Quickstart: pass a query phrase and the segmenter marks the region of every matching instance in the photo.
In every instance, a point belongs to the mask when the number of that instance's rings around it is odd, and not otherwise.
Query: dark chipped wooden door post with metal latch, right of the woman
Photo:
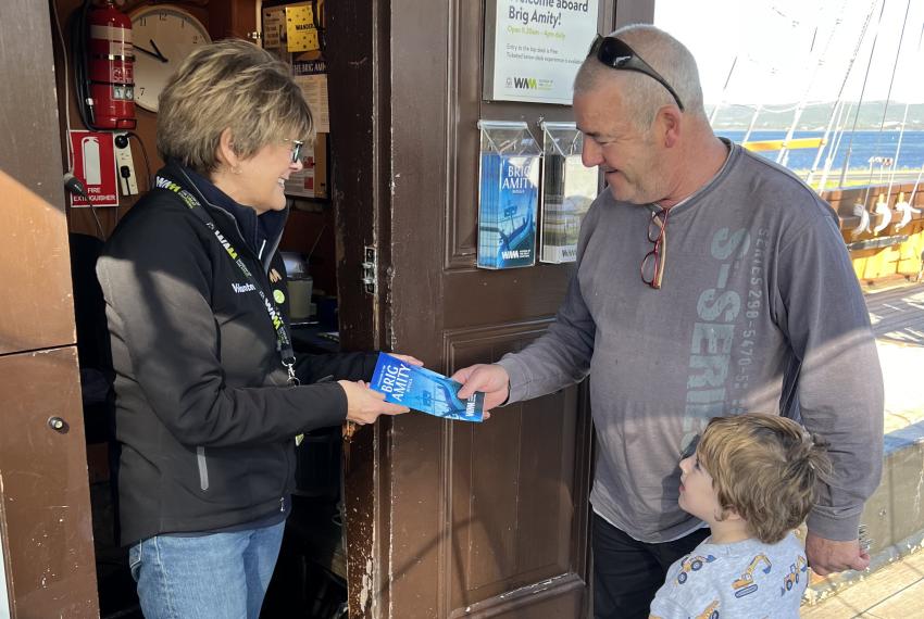
[[[332,202],[336,213],[337,295],[344,350],[390,350],[385,265],[391,262],[387,0],[327,7],[332,138]],[[375,291],[362,282],[366,250],[376,253]],[[390,425],[383,419],[344,443],[347,580],[350,617],[376,617],[382,603],[378,566],[383,543],[380,489],[386,481]]]

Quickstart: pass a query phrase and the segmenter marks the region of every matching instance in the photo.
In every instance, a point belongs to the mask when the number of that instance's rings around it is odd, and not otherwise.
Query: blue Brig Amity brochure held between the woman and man
[[[477,391],[462,401],[457,395],[460,387],[451,378],[385,353],[378,353],[378,363],[370,382],[371,389],[385,394],[386,402],[444,419],[482,421],[485,394]]]

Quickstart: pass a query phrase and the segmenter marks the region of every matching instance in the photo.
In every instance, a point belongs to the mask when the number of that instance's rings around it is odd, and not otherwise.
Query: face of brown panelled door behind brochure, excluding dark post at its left
[[[571,269],[487,271],[476,257],[479,118],[571,118],[486,103],[484,4],[391,4],[390,344],[449,375],[549,325]],[[612,17],[610,16],[610,23]],[[577,389],[484,425],[397,419],[383,464],[380,617],[582,617],[588,607],[590,424]]]

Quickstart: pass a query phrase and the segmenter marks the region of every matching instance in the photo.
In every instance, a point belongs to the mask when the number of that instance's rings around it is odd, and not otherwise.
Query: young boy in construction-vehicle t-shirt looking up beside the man
[[[696,453],[680,460],[678,500],[712,535],[667,570],[651,617],[798,617],[809,578],[792,529],[828,467],[823,447],[790,419],[712,419]]]

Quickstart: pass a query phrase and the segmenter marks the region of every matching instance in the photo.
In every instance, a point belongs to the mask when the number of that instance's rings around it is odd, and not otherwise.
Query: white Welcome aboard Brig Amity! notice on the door
[[[571,105],[598,0],[488,0],[484,99]]]

